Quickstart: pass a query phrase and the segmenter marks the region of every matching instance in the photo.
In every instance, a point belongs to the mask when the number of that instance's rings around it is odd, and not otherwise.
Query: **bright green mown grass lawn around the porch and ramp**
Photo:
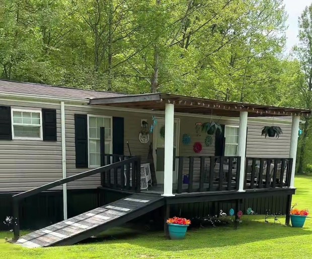
[[[296,177],[293,204],[312,211],[312,177]],[[312,258],[312,220],[303,229],[265,224],[264,217],[244,216],[233,227],[188,231],[182,241],[166,240],[163,232],[116,228],[100,241],[64,247],[27,249],[6,243],[11,233],[0,232],[0,259],[17,258]],[[284,223],[284,222],[282,222]]]

